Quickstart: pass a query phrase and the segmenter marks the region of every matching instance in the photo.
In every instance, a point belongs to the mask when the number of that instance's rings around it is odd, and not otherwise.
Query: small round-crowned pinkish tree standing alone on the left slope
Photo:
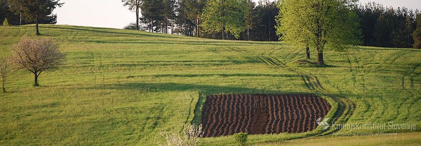
[[[64,55],[58,45],[50,38],[22,40],[12,46],[11,61],[17,69],[34,73],[34,86],[39,86],[38,76],[47,70],[58,68],[64,61]]]

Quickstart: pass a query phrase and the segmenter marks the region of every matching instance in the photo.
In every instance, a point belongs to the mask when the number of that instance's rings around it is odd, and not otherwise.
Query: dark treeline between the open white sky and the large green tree
[[[122,0],[123,5],[130,10],[139,12],[141,17],[140,30],[164,34],[179,34],[185,36],[214,38],[214,39],[236,39],[236,40],[257,40],[257,41],[278,41],[276,35],[275,17],[279,13],[277,2],[260,0],[258,3],[252,0]],[[235,4],[234,4],[235,3]],[[202,25],[205,19],[207,7],[221,6],[224,11],[232,8],[238,11],[239,17],[221,13],[217,17],[240,29],[236,34],[228,29],[230,24],[221,24],[220,31],[207,29]],[[136,7],[140,11],[136,11]],[[208,10],[209,11],[209,10]],[[233,11],[231,11],[233,12]],[[209,26],[209,25],[208,25]],[[219,26],[218,26],[219,27]],[[125,29],[136,29],[137,24],[131,23]],[[223,29],[223,30],[222,30]],[[224,31],[225,30],[225,31]],[[234,33],[234,34],[233,34]]]

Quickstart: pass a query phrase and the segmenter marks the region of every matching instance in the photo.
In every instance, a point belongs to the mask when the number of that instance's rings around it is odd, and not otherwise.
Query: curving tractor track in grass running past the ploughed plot
[[[333,115],[333,119],[332,122],[334,122],[335,124],[345,124],[348,122],[349,118],[351,117],[351,115],[353,114],[353,112],[356,109],[356,105],[355,103],[353,103],[351,100],[347,99],[347,98],[339,98],[339,97],[334,97],[333,95],[331,95],[330,91],[327,91],[321,84],[319,78],[312,74],[312,73],[308,73],[299,69],[295,69],[292,67],[287,66],[285,63],[281,62],[279,59],[277,59],[276,57],[270,56],[270,55],[257,55],[255,56],[257,59],[260,59],[264,64],[274,67],[274,68],[283,68],[286,69],[288,71],[297,73],[301,76],[305,86],[311,90],[314,91],[316,93],[319,93],[321,95],[327,96],[329,98],[331,98],[332,100],[334,100],[337,104],[337,110]],[[314,119],[316,120],[316,119]],[[332,128],[332,127],[331,127]],[[322,136],[322,135],[327,135],[327,134],[331,134],[331,133],[335,133],[337,131],[339,131],[340,128],[337,129],[331,129],[331,130],[326,130],[318,135]]]

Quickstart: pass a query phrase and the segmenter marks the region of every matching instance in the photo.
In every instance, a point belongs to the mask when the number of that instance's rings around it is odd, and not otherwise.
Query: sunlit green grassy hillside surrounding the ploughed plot
[[[0,27],[0,57],[10,55],[9,47],[21,37],[35,37],[34,31],[33,25]],[[156,145],[163,142],[160,132],[198,123],[204,96],[220,93],[314,93],[338,102],[343,113],[329,116],[341,123],[421,124],[421,50],[327,52],[327,66],[316,67],[294,63],[305,57],[304,49],[282,42],[65,25],[41,25],[40,31],[60,43],[65,64],[41,74],[36,88],[29,72],[9,75],[8,92],[0,94],[1,145]],[[376,131],[409,130],[340,130]],[[329,132],[253,135],[249,143],[283,144],[323,133]],[[411,135],[418,138],[410,142],[420,143],[420,133]],[[200,144],[233,142],[228,136]]]

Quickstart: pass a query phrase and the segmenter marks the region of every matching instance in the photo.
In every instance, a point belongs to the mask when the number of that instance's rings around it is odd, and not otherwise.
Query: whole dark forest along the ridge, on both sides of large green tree
[[[124,1],[136,1],[139,4],[140,29],[144,31],[233,40],[278,41],[280,37],[277,36],[275,29],[275,17],[280,11],[278,1],[259,0],[258,3],[252,0]],[[130,7],[132,8],[133,6]],[[212,10],[214,11],[209,12]],[[353,11],[360,20],[363,45],[417,48],[414,42],[417,41],[415,30],[416,18],[420,14],[418,10],[394,9],[372,2],[358,5]],[[230,29],[228,26],[234,26],[235,29]],[[131,23],[125,28],[136,29],[136,23]]]

